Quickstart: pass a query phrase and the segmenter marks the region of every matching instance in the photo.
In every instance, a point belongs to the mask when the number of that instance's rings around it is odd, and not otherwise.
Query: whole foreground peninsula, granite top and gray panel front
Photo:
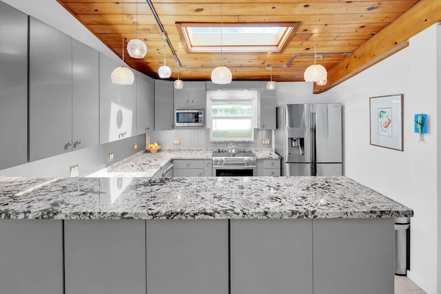
[[[0,191],[12,294],[393,294],[393,219],[413,216],[342,176],[0,178]]]

